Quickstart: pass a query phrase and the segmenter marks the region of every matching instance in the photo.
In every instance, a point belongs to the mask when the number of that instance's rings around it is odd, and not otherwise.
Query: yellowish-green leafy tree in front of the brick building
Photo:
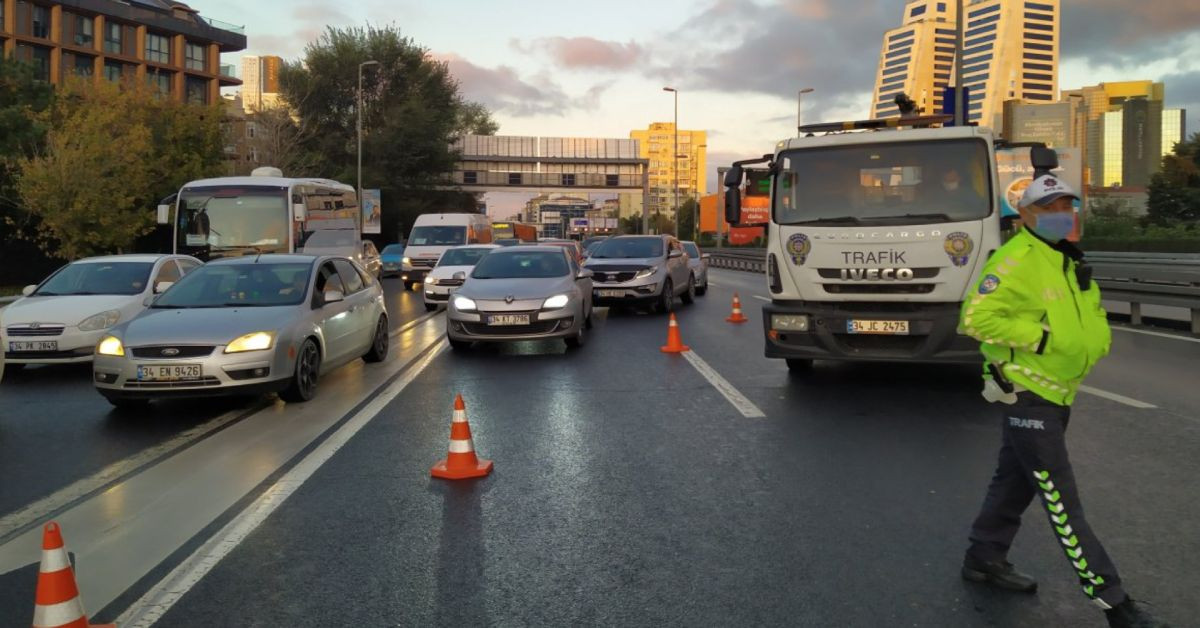
[[[160,198],[222,168],[217,107],[136,82],[68,82],[40,120],[46,146],[20,160],[17,190],[38,244],[59,257],[128,250],[155,228]]]

